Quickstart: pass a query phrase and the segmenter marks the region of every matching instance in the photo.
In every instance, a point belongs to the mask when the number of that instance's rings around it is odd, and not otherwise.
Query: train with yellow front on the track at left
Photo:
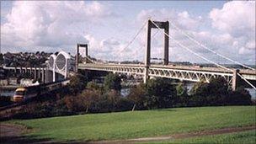
[[[49,93],[58,88],[62,88],[63,86],[66,86],[67,83],[69,83],[69,80],[62,80],[62,81],[53,82],[53,83],[43,83],[40,85],[27,86],[27,87],[19,87],[15,90],[12,101],[14,103],[19,103],[39,95]]]

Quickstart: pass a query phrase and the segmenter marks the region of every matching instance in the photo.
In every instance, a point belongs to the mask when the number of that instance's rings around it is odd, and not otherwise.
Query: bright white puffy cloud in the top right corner
[[[214,8],[209,14],[212,26],[231,33],[233,36],[244,34],[248,30],[255,31],[255,2],[232,1],[223,8]]]

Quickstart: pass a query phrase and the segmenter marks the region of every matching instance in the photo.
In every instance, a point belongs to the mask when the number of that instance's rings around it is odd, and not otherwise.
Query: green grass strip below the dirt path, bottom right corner
[[[145,142],[150,144],[168,144],[168,143],[209,143],[209,144],[255,144],[256,131],[243,131],[231,134],[222,134],[215,136],[200,136],[193,138],[177,139],[170,141]]]

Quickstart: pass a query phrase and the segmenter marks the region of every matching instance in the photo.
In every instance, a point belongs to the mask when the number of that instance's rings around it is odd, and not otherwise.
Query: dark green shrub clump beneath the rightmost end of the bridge
[[[213,78],[210,83],[195,83],[190,93],[190,106],[252,104],[247,90],[230,91],[223,77]]]

